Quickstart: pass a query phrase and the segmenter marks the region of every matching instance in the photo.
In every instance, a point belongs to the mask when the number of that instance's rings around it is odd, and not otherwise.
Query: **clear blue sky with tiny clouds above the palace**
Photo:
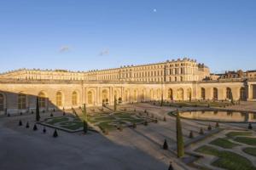
[[[256,69],[256,1],[0,1],[0,72],[87,71],[183,56],[212,72]]]

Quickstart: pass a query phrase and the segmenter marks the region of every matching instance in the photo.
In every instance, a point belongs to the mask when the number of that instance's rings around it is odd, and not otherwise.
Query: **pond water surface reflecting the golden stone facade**
[[[187,111],[180,116],[190,119],[200,119],[219,122],[256,122],[255,113],[232,111]]]

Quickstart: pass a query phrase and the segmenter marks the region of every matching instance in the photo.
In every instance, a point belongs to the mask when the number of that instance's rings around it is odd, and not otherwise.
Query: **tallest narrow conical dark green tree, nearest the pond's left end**
[[[176,131],[177,131],[177,157],[184,156],[183,131],[180,121],[179,112],[176,114]]]

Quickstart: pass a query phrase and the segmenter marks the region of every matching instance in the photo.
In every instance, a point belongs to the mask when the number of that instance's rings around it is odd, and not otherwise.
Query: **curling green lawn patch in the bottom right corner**
[[[202,154],[218,157],[212,162],[212,166],[221,167],[228,170],[255,170],[253,163],[247,158],[240,156],[234,152],[217,150],[211,146],[203,145],[195,151]]]

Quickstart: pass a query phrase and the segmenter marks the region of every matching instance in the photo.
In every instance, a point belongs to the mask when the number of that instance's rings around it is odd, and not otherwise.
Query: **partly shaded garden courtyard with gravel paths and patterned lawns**
[[[236,163],[244,165],[244,169],[254,169],[254,123],[253,130],[247,130],[246,122],[219,122],[216,127],[214,121],[182,119],[185,156],[177,158],[176,117],[170,113],[177,109],[209,109],[206,103],[195,106],[195,102],[188,102],[181,107],[181,102],[165,102],[163,106],[148,102],[119,105],[117,111],[113,106],[88,108],[90,129],[86,134],[81,109],[76,114],[66,111],[64,116],[63,111],[41,113],[40,122],[35,122],[34,114],[4,116],[0,121],[0,169],[168,169],[170,161],[174,169],[234,169],[239,167]],[[225,107],[215,105],[230,111],[239,108],[227,103]],[[247,105],[246,111],[255,111],[253,102],[240,105]],[[19,121],[22,126],[18,126]],[[37,131],[33,131],[34,124]],[[55,129],[58,138],[52,137]],[[168,150],[162,149],[165,139]]]

